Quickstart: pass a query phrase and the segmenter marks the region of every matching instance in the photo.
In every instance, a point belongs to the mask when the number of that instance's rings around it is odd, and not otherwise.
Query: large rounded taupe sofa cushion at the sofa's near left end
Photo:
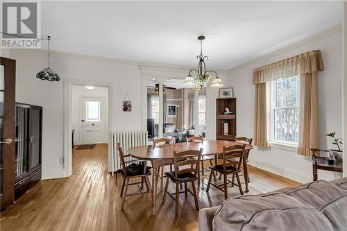
[[[332,230],[314,207],[285,194],[230,198],[217,209],[212,224],[214,230]]]

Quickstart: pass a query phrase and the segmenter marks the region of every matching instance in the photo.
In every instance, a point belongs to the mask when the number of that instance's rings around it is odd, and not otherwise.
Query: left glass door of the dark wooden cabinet
[[[28,168],[28,108],[16,108],[15,177],[27,173]]]

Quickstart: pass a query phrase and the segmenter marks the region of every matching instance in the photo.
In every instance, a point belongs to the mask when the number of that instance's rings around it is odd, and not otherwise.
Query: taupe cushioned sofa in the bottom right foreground
[[[199,211],[198,230],[347,230],[347,178],[228,198]]]

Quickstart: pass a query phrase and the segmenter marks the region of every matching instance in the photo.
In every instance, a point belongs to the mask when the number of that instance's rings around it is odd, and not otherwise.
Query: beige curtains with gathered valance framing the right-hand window
[[[268,144],[266,137],[266,94],[261,93],[263,89],[266,91],[265,83],[279,78],[300,75],[298,154],[311,156],[310,149],[319,148],[317,72],[323,71],[323,69],[321,51],[316,50],[253,70],[252,83],[255,85],[255,145],[266,147]],[[260,116],[264,111],[264,116]]]

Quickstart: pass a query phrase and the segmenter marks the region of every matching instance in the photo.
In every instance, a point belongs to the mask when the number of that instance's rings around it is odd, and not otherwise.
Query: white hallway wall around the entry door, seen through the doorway
[[[71,123],[72,123],[72,129],[75,130],[74,132],[74,144],[81,144],[81,132],[80,132],[80,125],[81,125],[81,117],[80,117],[80,96],[103,96],[105,97],[105,106],[108,107],[108,87],[96,87],[95,89],[87,89],[85,86],[79,86],[79,85],[72,85],[72,96],[71,96]],[[105,110],[105,113],[108,114],[108,110]],[[103,116],[103,134],[105,134],[105,128],[107,126],[107,117],[106,114]],[[105,135],[103,137],[104,140],[107,140],[108,137]]]

